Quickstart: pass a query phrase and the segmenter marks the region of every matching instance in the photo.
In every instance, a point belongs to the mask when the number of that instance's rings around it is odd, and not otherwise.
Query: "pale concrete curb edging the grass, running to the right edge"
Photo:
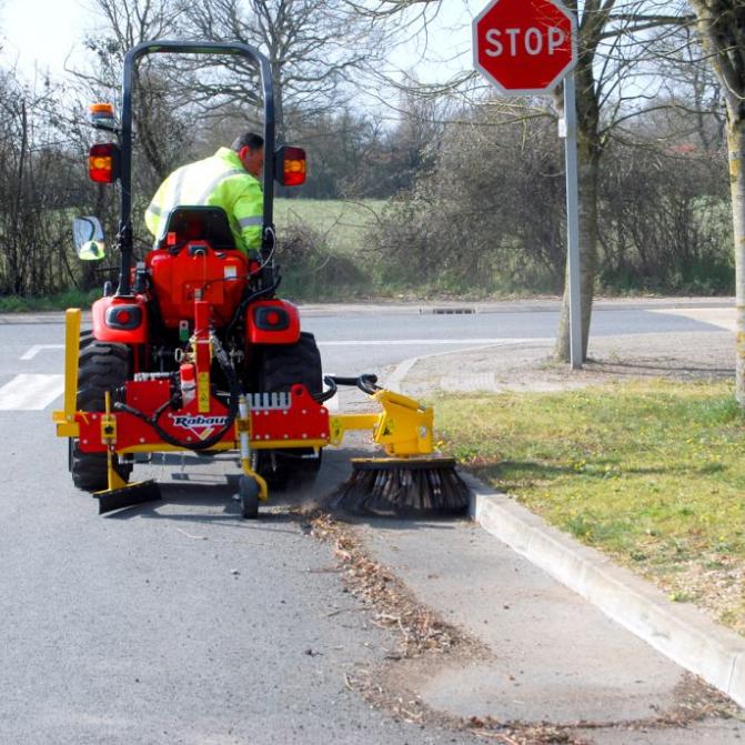
[[[489,533],[682,667],[745,706],[745,638],[696,608],[672,603],[594,548],[582,546],[504,494],[464,474],[471,516]]]

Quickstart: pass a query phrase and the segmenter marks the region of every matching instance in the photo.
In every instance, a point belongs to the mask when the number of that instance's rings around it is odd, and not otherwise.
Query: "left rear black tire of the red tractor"
[[[90,332],[82,332],[78,368],[78,410],[101,412],[105,407],[105,392],[124,385],[129,371],[129,349],[125,344],[99,342]],[[74,437],[69,442],[69,466],[72,483],[85,492],[98,492],[109,484],[105,453],[83,453]],[[115,459],[115,456],[114,456]],[[114,460],[117,473],[128,481],[130,463]]]

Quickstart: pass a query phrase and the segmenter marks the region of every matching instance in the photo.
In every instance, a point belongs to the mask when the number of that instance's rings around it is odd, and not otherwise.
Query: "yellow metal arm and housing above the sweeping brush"
[[[383,406],[380,414],[338,414],[329,417],[331,445],[341,445],[346,432],[372,429],[373,441],[382,445],[387,455],[405,457],[429,455],[434,451],[433,409],[393,391],[376,391],[372,397]]]

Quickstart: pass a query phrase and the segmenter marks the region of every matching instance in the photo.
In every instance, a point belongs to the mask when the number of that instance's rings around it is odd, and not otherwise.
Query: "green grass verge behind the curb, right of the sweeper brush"
[[[745,415],[723,382],[449,396],[444,450],[745,634]]]

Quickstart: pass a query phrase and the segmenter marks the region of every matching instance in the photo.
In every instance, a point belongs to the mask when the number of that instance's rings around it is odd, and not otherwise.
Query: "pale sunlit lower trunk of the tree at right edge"
[[[737,362],[735,395],[745,406],[745,118],[727,119],[727,145],[729,150],[729,185],[732,191],[732,219],[735,236],[735,288],[737,308]]]

